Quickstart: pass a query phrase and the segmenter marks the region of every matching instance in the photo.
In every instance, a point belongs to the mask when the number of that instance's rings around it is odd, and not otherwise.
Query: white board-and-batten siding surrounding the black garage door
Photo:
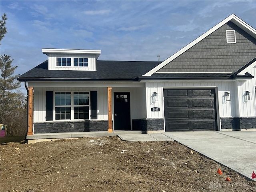
[[[146,97],[147,97],[147,118],[164,118],[164,88],[214,88],[216,90],[216,109],[217,116],[220,117],[234,117],[237,115],[236,104],[234,100],[235,89],[234,82],[223,81],[173,81],[173,82],[146,82]],[[226,101],[225,92],[230,92],[231,101]],[[153,101],[153,92],[158,93],[158,101]],[[160,112],[152,112],[152,107],[159,107]]]

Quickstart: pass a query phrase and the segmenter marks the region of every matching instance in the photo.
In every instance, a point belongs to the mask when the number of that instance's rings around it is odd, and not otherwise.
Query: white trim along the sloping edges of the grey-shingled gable
[[[238,18],[237,16],[232,14],[232,15],[228,16],[226,19],[224,19],[222,22],[218,23],[216,26],[214,26],[213,28],[211,28],[210,30],[208,30],[207,32],[202,34],[200,37],[198,37],[197,39],[192,41],[190,44],[188,44],[187,46],[185,46],[184,48],[182,48],[181,50],[179,50],[178,52],[176,52],[175,54],[173,54],[172,56],[170,56],[169,58],[164,60],[162,63],[160,63],[158,66],[156,66],[155,68],[153,68],[152,70],[150,70],[149,72],[144,74],[143,76],[151,76],[152,74],[154,74],[155,72],[160,70],[162,67],[164,67],[166,64],[170,63],[172,60],[174,60],[175,58],[180,56],[182,53],[186,52],[192,46],[194,46],[195,44],[197,44],[198,42],[200,42],[201,40],[206,38],[208,35],[212,34],[215,30],[217,30],[218,28],[220,28],[221,26],[223,26],[224,24],[226,24],[229,21],[238,25],[240,28],[242,28],[248,34],[250,34],[251,36],[256,38],[256,30],[254,28],[252,28],[250,25],[248,25],[246,22],[244,22],[243,20],[241,20],[240,18]]]

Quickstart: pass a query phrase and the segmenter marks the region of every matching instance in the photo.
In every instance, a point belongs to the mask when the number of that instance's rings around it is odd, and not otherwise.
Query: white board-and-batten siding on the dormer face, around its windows
[[[56,58],[65,57],[71,58],[71,65],[73,65],[73,58],[88,58],[88,67],[78,66],[56,66]],[[79,70],[79,71],[95,71],[96,57],[91,54],[49,54],[48,56],[49,70]]]

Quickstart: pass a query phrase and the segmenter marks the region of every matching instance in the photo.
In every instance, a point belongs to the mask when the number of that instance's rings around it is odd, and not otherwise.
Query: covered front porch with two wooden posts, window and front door
[[[28,138],[147,131],[144,83],[28,82],[28,87]]]

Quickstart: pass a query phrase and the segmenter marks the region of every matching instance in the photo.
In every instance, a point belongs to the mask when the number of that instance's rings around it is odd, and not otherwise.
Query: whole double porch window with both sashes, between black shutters
[[[55,120],[89,119],[89,92],[55,92],[54,101]]]

